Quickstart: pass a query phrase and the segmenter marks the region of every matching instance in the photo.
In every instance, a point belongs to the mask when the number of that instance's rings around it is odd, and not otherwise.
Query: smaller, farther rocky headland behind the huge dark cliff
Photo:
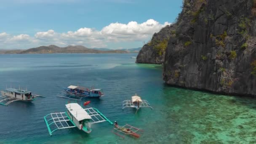
[[[163,64],[168,40],[174,33],[174,25],[166,26],[155,33],[150,42],[139,51],[136,63]]]

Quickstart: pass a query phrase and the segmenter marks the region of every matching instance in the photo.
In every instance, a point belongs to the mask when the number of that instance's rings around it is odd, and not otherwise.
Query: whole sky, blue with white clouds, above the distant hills
[[[2,0],[0,48],[136,48],[172,23],[182,0]],[[132,21],[132,22],[131,22]]]

